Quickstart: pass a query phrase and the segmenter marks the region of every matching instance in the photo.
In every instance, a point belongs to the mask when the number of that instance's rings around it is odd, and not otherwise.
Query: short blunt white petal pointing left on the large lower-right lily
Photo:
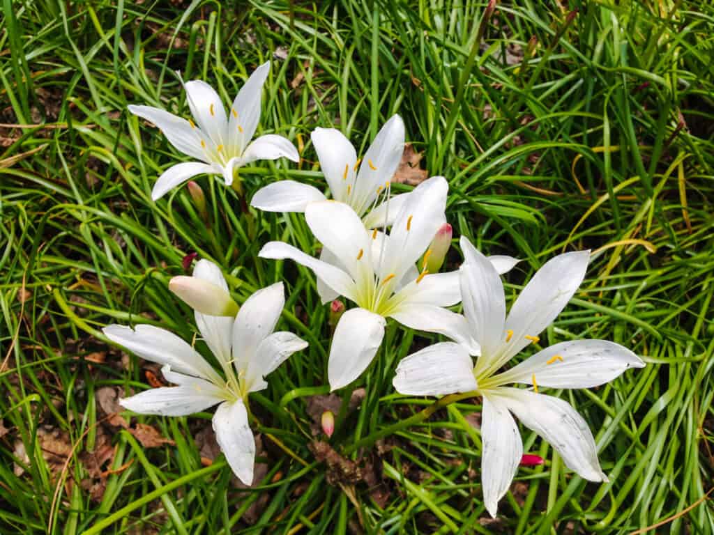
[[[403,358],[392,381],[400,394],[446,396],[478,388],[468,352],[453,342],[430,345]]]

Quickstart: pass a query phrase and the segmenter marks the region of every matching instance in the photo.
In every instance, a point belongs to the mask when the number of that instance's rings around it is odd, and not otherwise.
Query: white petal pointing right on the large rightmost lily
[[[558,358],[560,357],[560,358]],[[539,387],[590,388],[612,381],[645,363],[630,350],[606,340],[573,340],[551,345],[501,375],[504,382]]]

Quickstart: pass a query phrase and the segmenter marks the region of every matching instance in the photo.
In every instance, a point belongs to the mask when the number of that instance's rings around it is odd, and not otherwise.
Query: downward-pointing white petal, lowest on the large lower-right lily
[[[483,395],[481,412],[481,486],[488,513],[496,518],[498,500],[503,498],[518,472],[523,442],[518,426],[501,399]]]

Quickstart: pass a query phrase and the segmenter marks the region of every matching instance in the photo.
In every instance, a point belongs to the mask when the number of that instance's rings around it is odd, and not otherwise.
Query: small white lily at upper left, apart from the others
[[[266,134],[251,143],[261,117],[261,90],[269,70],[270,63],[266,62],[253,71],[238,91],[228,114],[218,93],[201,80],[183,84],[193,120],[186,121],[161,108],[129,106],[131,113],[160,128],[178,151],[198,160],[177,163],[166,169],[151,191],[152,199],[159,199],[202,173],[222,175],[229,186],[233,183],[234,170],[253,161],[276,160],[283,156],[293,162],[300,161],[296,148],[282,136]]]

